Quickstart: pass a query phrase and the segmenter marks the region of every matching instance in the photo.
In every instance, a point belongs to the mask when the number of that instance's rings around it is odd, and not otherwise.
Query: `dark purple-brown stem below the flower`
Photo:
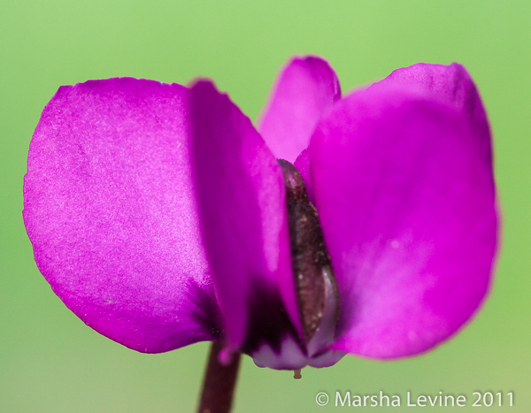
[[[240,353],[234,353],[231,362],[223,365],[219,363],[219,351],[222,348],[222,343],[212,343],[197,413],[227,413],[232,407],[242,357]]]

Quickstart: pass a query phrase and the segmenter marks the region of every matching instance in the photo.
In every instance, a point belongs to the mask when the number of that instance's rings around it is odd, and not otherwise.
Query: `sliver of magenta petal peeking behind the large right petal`
[[[492,148],[487,113],[481,103],[481,96],[465,66],[430,65],[418,63],[396,69],[374,87],[388,88],[391,84],[402,87],[423,88],[435,99],[449,103],[468,119],[471,128],[469,136],[476,140],[487,164],[492,164]]]

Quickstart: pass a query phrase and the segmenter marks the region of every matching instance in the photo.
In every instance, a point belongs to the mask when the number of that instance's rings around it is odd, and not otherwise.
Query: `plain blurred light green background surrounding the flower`
[[[27,148],[60,85],[134,76],[214,79],[257,119],[275,73],[296,54],[335,67],[343,91],[416,62],[466,65],[489,111],[503,210],[489,301],[431,353],[380,363],[258,369],[245,356],[236,412],[321,411],[315,395],[466,394],[460,411],[531,409],[531,2],[73,1],[0,8],[0,412],[191,411],[206,343],[142,355],[95,333],[38,272],[21,217]],[[513,392],[514,407],[472,408],[473,392]],[[505,402],[505,404],[507,404]],[[339,408],[341,409],[341,408]],[[348,409],[348,408],[344,408]],[[425,408],[443,410],[444,408]],[[448,409],[448,408],[447,408]],[[448,409],[453,410],[453,409]]]

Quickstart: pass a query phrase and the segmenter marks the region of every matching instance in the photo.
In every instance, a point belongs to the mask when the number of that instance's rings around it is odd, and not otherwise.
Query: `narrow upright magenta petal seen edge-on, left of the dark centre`
[[[212,83],[197,82],[191,96],[198,202],[228,348],[278,349],[294,334],[289,318],[302,336],[281,167]]]

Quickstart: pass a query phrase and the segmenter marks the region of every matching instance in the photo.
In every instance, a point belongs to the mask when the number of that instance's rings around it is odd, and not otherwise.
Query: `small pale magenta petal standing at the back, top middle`
[[[340,98],[339,80],[327,61],[296,57],[276,80],[258,131],[275,157],[293,164],[323,113]]]

